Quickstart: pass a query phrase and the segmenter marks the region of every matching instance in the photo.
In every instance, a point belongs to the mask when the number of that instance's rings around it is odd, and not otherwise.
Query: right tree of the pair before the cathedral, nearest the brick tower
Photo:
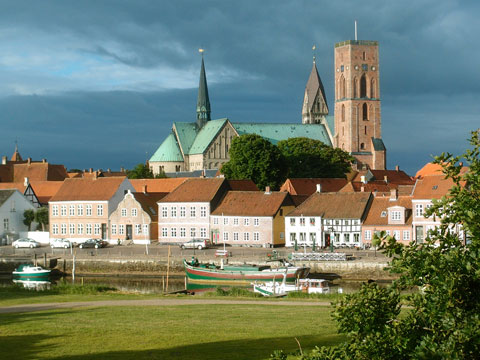
[[[342,149],[305,137],[290,138],[278,143],[291,178],[344,178],[354,160]]]

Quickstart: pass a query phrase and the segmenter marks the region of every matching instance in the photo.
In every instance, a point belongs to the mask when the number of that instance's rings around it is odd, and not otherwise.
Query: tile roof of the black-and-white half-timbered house
[[[314,193],[288,216],[360,219],[372,197],[369,192]]]

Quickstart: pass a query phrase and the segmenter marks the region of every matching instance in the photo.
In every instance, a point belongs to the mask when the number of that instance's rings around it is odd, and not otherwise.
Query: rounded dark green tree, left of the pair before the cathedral
[[[287,166],[280,150],[260,135],[233,139],[229,155],[230,161],[221,169],[227,179],[251,179],[260,189],[278,189],[286,179]]]

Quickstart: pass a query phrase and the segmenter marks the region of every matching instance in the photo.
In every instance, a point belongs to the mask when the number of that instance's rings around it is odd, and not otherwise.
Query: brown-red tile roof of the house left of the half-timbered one
[[[229,191],[212,215],[275,216],[283,204],[293,205],[286,192]]]

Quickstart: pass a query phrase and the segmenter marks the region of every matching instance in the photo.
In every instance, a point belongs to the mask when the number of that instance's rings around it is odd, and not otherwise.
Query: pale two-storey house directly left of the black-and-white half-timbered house
[[[295,208],[286,192],[229,191],[210,216],[215,244],[284,246],[285,214]]]

